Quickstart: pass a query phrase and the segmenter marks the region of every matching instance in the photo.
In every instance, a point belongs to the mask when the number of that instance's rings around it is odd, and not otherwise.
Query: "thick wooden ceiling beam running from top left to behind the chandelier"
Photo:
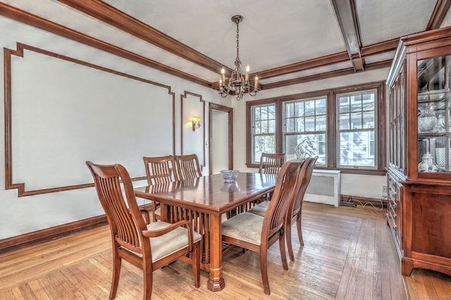
[[[173,39],[173,37],[165,35],[163,32],[150,27],[136,18],[133,18],[131,15],[128,15],[123,11],[119,11],[117,8],[106,4],[104,1],[58,1],[215,73],[218,73],[223,67],[221,63],[214,61],[199,51],[192,49],[190,46],[179,42],[177,39]],[[230,68],[226,68],[226,70],[230,73],[232,72]]]

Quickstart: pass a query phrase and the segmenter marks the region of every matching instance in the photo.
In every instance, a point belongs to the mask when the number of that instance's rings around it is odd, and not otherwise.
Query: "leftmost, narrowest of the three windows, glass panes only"
[[[276,106],[252,108],[252,157],[260,161],[262,153],[276,152]]]

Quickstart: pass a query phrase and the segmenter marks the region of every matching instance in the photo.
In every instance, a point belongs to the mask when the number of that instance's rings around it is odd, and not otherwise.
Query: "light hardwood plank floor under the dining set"
[[[194,288],[190,265],[177,261],[154,273],[152,299],[451,299],[447,275],[414,270],[404,285],[385,218],[372,208],[306,202],[302,218],[305,245],[295,235],[290,270],[277,243],[269,251],[270,296],[258,254],[233,248],[223,257],[223,291],[206,289],[203,271]],[[0,256],[0,299],[108,299],[110,283],[108,226]],[[142,271],[130,263],[116,299],[142,299]]]

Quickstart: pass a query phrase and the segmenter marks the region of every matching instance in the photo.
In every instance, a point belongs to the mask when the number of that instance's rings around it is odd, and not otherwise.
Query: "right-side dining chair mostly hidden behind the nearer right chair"
[[[297,196],[294,197],[294,201],[290,203],[288,207],[288,216],[285,224],[285,237],[287,239],[288,255],[290,256],[290,261],[295,261],[295,254],[293,252],[291,230],[292,230],[292,220],[296,221],[297,237],[299,238],[299,243],[304,246],[304,239],[302,238],[302,202],[304,201],[304,195],[309,187],[311,180],[311,175],[313,174],[314,166],[318,156],[313,158],[306,158],[307,170],[304,175],[304,180],[302,180],[302,185],[297,192]],[[291,215],[290,215],[291,214]]]

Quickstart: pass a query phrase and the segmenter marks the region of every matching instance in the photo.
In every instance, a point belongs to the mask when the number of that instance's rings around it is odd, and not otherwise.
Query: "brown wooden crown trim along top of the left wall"
[[[122,58],[129,59],[130,61],[135,61],[136,63],[140,63],[142,65],[147,65],[150,68],[154,68],[156,70],[161,70],[162,72],[183,78],[185,80],[190,80],[191,82],[195,82],[199,85],[204,85],[206,87],[211,87],[210,82],[206,80],[202,80],[198,77],[194,77],[193,75],[184,73],[175,68],[171,68],[168,65],[163,65],[157,61],[153,61],[152,59],[146,58],[144,56],[140,56],[131,51],[127,51],[118,46],[114,46],[113,44],[109,44],[103,42],[99,39],[94,39],[94,37],[89,37],[81,32],[72,30],[68,27],[64,27],[62,25],[51,22],[50,20],[46,20],[37,15],[33,15],[32,13],[28,13],[26,11],[22,11],[18,8],[14,8],[13,6],[8,6],[7,4],[0,3],[0,15],[3,15],[6,18],[10,18],[12,20],[16,20],[20,23],[24,23],[33,27],[37,27],[41,30],[45,30],[47,32],[51,32],[55,35],[59,35],[61,37],[66,37],[68,39],[72,39],[76,42],[80,42],[82,44],[86,44],[88,46],[92,46],[96,49],[100,49],[102,51],[109,52],[111,54],[121,56]]]

